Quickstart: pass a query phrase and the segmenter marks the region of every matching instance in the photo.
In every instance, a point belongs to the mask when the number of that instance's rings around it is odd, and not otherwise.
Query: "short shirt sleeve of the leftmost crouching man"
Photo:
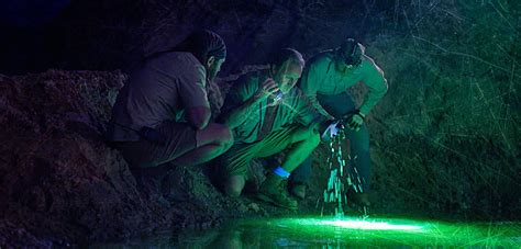
[[[207,73],[202,65],[195,65],[192,70],[187,70],[179,79],[178,92],[185,109],[210,107],[206,90]]]

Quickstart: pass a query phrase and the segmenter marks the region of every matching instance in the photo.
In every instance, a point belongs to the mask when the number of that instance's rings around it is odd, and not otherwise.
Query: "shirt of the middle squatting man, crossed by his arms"
[[[266,70],[253,71],[240,77],[226,94],[222,107],[222,115],[225,116],[229,112],[253,98],[267,78],[268,75]],[[250,115],[244,116],[243,122],[233,129],[236,143],[254,143],[263,138],[260,127],[266,120],[268,101],[270,102],[271,100],[266,99],[255,104]],[[322,118],[298,88],[293,88],[286,93],[276,106],[270,131],[289,127],[289,125],[293,123],[309,126],[311,123],[320,122]]]

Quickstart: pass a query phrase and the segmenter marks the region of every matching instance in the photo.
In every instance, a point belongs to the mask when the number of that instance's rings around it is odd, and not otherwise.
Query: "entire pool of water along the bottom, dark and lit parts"
[[[521,248],[521,223],[403,218],[257,218],[96,248]]]

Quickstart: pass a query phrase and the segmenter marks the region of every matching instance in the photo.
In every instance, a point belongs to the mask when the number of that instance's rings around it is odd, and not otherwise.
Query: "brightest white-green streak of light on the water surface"
[[[411,225],[392,225],[381,222],[366,222],[366,220],[323,220],[318,224],[337,226],[351,229],[363,230],[419,230],[420,226]]]

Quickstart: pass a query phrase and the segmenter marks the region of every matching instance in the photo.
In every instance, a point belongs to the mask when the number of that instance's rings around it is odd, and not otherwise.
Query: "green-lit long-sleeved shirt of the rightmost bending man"
[[[319,106],[317,94],[340,94],[362,81],[369,91],[359,106],[359,111],[364,114],[369,113],[370,109],[387,92],[388,86],[387,80],[384,78],[384,72],[366,55],[363,55],[362,64],[358,67],[342,72],[335,68],[334,56],[333,50],[326,50],[311,58],[300,79],[302,91],[310,99],[313,106],[324,114],[322,112],[323,109]]]

